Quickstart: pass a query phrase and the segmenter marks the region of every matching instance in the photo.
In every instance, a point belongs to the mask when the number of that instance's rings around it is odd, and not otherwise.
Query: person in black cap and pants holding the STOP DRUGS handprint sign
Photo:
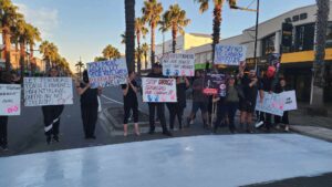
[[[153,71],[147,75],[147,77],[165,77],[163,76],[162,65],[154,64]],[[157,115],[163,127],[163,134],[172,136],[172,133],[167,129],[166,118],[165,118],[165,106],[164,103],[152,103],[148,102],[148,114],[149,114],[149,134],[155,133],[155,111],[157,110]]]

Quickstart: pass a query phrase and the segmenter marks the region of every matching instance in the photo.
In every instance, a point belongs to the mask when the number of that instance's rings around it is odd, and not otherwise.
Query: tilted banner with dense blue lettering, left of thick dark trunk
[[[87,63],[89,81],[92,89],[125,84],[128,71],[124,59]]]

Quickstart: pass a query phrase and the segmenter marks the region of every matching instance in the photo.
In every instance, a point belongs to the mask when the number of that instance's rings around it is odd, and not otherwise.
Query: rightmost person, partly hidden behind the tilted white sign
[[[279,93],[282,93],[286,91],[290,91],[290,90],[287,86],[284,77],[280,77],[279,83],[276,86],[276,93],[279,94]],[[282,116],[274,115],[274,123],[276,123],[277,128],[279,128],[280,124],[282,124],[282,125],[284,125],[284,131],[289,132],[288,111],[284,111]]]

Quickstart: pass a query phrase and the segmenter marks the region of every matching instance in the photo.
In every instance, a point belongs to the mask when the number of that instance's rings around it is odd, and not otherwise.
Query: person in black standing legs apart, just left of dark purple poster
[[[187,117],[187,127],[193,124],[197,111],[200,110],[204,128],[208,128],[208,96],[203,93],[203,90],[204,74],[201,71],[196,71],[196,79],[193,82],[193,108],[190,115]]]

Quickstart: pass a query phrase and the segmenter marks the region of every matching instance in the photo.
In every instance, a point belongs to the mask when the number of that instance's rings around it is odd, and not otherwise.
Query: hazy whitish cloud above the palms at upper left
[[[53,31],[59,25],[58,10],[50,8],[31,9],[23,3],[15,3],[19,12],[24,14],[25,21],[37,27],[43,39],[53,37]]]

